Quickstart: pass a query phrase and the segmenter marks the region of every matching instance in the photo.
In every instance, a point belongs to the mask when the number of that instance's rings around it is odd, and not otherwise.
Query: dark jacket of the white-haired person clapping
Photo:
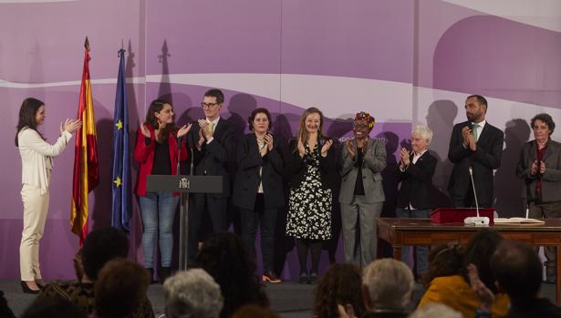
[[[426,210],[434,207],[431,201],[432,175],[438,160],[427,150],[421,158],[413,164],[413,155],[410,156],[410,165],[405,171],[398,165],[397,176],[401,182],[398,192],[398,208],[407,208],[409,204],[415,209]]]

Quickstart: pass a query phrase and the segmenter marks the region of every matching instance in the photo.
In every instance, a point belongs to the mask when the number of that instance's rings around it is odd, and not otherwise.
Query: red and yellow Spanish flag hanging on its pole
[[[72,232],[80,238],[80,246],[88,235],[88,192],[94,190],[99,183],[96,120],[93,113],[91,82],[89,80],[88,37],[86,37],[84,46],[86,46],[84,71],[78,102],[78,119],[82,120],[82,128],[79,128],[76,133],[70,215],[70,226]]]

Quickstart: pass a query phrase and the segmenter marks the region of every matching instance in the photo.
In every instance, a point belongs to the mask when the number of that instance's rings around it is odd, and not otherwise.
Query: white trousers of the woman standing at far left
[[[24,231],[19,245],[19,271],[22,281],[41,279],[39,269],[39,240],[45,230],[48,209],[48,190],[24,184],[21,190],[24,203]]]

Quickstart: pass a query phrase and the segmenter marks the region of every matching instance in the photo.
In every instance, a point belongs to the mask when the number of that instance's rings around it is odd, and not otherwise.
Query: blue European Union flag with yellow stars
[[[129,114],[125,87],[125,50],[119,50],[119,77],[113,115],[113,204],[111,226],[130,231],[132,198],[130,192]]]

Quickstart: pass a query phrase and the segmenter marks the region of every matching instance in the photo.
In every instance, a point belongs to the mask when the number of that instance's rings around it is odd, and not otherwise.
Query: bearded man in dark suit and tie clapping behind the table
[[[493,169],[501,165],[504,133],[485,120],[487,100],[472,95],[465,100],[468,121],[452,129],[448,159],[454,164],[448,191],[454,207],[474,207],[473,183],[480,207],[493,205]]]

